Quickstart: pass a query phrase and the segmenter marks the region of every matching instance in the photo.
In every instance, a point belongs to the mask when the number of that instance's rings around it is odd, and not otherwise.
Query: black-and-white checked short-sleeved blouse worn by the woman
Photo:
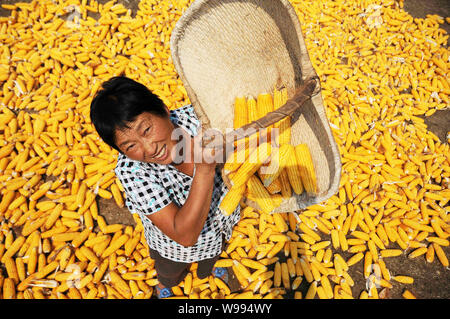
[[[171,110],[170,120],[192,137],[197,135],[200,122],[191,105]],[[233,226],[240,219],[240,207],[230,216],[220,213],[219,204],[228,189],[219,170],[216,170],[214,177],[208,217],[197,243],[191,247],[184,247],[170,239],[147,218],[170,203],[178,207],[184,205],[191,188],[191,176],[172,165],[139,162],[123,154],[119,154],[115,172],[125,189],[126,206],[131,213],[139,215],[150,248],[167,259],[186,263],[212,258],[222,252],[222,235],[226,240],[230,239]]]

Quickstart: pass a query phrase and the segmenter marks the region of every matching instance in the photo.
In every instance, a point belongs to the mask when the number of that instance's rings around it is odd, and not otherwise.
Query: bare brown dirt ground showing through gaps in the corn
[[[0,0],[0,3],[15,3],[17,0]],[[29,2],[29,0],[20,0],[20,2]],[[106,3],[107,0],[98,0],[100,3]],[[138,9],[139,0],[122,0],[125,7],[133,11],[133,16]],[[438,14],[442,17],[450,16],[450,1],[448,0],[406,0],[404,9],[413,17],[424,18],[427,14]],[[0,8],[0,16],[9,15],[9,10]],[[93,16],[96,18],[95,16]],[[450,34],[450,25],[443,24],[441,28]],[[450,40],[447,42],[450,43]],[[450,132],[450,109],[437,111],[432,116],[424,117],[429,130],[435,133],[439,139],[445,143],[446,135]],[[99,212],[103,215],[107,223],[122,223],[125,225],[134,225],[134,220],[126,208],[119,209],[113,200],[100,199],[98,201]],[[325,240],[331,240],[324,236]],[[450,256],[450,248],[444,247],[447,256]],[[409,275],[414,277],[414,284],[403,285],[394,284],[394,288],[387,292],[386,298],[402,298],[402,292],[405,288],[409,289],[416,297],[423,299],[450,299],[450,271],[445,269],[439,261],[435,260],[429,264],[425,258],[408,259],[411,249],[407,250],[399,257],[385,258],[387,268],[391,275]],[[351,254],[342,253],[344,259],[348,259]],[[279,255],[280,261],[284,256]],[[355,281],[353,287],[354,296],[359,296],[365,289],[366,281],[363,275],[363,261],[359,261],[349,270],[351,278]],[[233,284],[233,286],[235,283]],[[299,290],[306,294],[309,284],[306,280],[300,285]],[[234,287],[231,287],[234,290]],[[286,298],[293,298],[293,293],[288,292]]]

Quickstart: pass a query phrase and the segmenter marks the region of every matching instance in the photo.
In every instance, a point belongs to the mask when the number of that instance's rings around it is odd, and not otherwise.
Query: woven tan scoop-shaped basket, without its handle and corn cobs
[[[288,0],[196,0],[175,25],[170,45],[202,127],[224,134],[233,127],[236,97],[285,87],[291,98],[307,79],[317,77]],[[310,149],[318,192],[294,194],[273,212],[304,209],[338,191],[340,155],[321,94],[291,116],[291,144],[299,143]]]

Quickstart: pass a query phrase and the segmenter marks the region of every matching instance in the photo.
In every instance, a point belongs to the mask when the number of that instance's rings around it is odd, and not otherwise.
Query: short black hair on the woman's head
[[[144,112],[168,117],[164,102],[157,95],[125,76],[115,76],[102,83],[102,89],[91,102],[91,122],[98,135],[119,152],[115,131],[127,128],[127,123]]]

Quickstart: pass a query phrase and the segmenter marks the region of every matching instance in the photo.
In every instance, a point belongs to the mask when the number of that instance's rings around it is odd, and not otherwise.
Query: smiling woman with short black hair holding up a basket
[[[201,125],[193,107],[169,111],[143,84],[118,76],[92,100],[91,120],[103,141],[119,151],[115,172],[127,208],[144,226],[157,297],[173,295],[171,287],[193,262],[199,278],[212,274],[227,282],[226,268],[213,266],[240,209],[230,216],[219,211],[227,191],[216,169],[220,151],[199,146]]]

